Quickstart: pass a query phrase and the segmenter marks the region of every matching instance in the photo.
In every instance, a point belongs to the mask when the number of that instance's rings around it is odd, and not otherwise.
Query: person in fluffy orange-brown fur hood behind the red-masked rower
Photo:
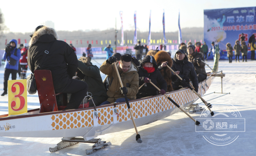
[[[167,83],[167,92],[171,92],[173,91],[172,88],[172,72],[171,70],[166,66],[168,65],[169,67],[172,67],[172,58],[170,57],[170,55],[161,50],[159,52],[157,52],[157,54],[154,56],[156,62],[157,62],[157,66],[158,69],[160,70],[161,75],[163,76],[163,78],[165,79],[166,83]]]

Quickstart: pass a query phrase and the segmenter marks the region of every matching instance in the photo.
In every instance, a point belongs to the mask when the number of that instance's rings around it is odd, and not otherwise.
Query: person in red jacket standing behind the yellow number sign
[[[20,74],[20,78],[21,79],[26,79],[26,71],[28,69],[28,48],[29,48],[29,44],[25,43],[24,44],[24,48],[22,48],[20,50],[20,66],[21,66],[21,74]]]

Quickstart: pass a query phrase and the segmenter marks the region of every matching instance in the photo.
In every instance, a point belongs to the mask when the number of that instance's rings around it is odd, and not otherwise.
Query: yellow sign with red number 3
[[[8,81],[8,110],[9,116],[28,112],[26,80]]]

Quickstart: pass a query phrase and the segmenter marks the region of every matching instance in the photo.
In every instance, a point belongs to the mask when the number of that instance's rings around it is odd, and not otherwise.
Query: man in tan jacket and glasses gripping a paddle
[[[114,64],[118,68],[124,87],[121,87]],[[111,56],[100,66],[99,70],[110,78],[108,99],[100,105],[125,102],[123,94],[127,95],[128,101],[136,99],[136,94],[139,91],[139,74],[137,73],[138,67],[132,62],[131,55],[122,55],[118,62],[116,62],[116,57]]]

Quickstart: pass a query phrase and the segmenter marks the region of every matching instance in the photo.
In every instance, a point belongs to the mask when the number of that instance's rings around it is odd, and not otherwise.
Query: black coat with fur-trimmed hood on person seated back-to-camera
[[[54,43],[40,70],[50,70],[55,92],[62,92],[72,83],[72,77],[78,67],[78,60],[74,50],[66,42],[57,40],[54,29],[44,26],[33,34],[29,42],[28,65],[31,72],[34,73],[52,41]]]

